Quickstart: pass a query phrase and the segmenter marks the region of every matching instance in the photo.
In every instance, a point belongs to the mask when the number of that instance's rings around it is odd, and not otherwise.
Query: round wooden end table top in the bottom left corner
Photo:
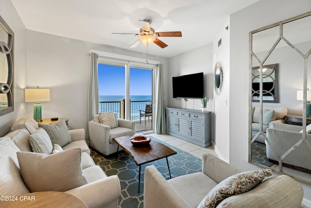
[[[78,197],[58,191],[41,191],[10,197],[8,201],[0,201],[1,208],[88,208]]]

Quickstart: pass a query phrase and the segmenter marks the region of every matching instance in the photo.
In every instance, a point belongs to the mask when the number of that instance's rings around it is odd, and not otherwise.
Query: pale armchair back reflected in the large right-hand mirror
[[[290,150],[302,138],[302,126],[291,124],[271,123],[267,129],[267,137],[277,154],[282,156]],[[311,134],[307,133],[307,141],[311,144]],[[273,149],[266,142],[267,158],[270,162],[278,164],[278,157]],[[305,143],[299,145],[289,153],[283,160],[285,167],[302,170],[311,173],[311,150]]]

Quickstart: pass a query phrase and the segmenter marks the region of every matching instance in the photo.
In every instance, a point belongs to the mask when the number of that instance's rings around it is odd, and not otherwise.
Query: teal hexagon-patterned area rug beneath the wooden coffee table
[[[188,152],[162,142],[153,136],[149,137],[177,152],[177,154],[168,157],[172,178],[202,171],[201,158],[197,158]],[[118,175],[121,183],[119,208],[143,208],[144,173],[147,166],[155,166],[165,179],[170,179],[165,158],[144,164],[141,166],[140,191],[138,193],[139,168],[126,152],[120,153],[116,160],[115,156],[104,158],[103,155],[91,149],[91,156],[95,164],[99,165],[108,176]]]

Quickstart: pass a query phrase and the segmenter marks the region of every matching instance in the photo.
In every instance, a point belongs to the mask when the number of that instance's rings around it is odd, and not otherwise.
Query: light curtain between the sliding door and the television
[[[162,134],[166,131],[165,109],[163,100],[163,72],[162,64],[156,65],[156,83],[157,83],[157,99],[156,99],[156,116],[155,116],[155,133]]]

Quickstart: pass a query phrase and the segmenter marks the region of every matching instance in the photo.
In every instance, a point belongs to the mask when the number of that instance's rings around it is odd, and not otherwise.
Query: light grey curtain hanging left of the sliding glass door
[[[89,82],[88,82],[88,96],[87,96],[87,122],[92,120],[95,114],[99,112],[99,89],[98,89],[98,64],[97,54],[91,53]],[[87,143],[88,128],[87,128]]]

